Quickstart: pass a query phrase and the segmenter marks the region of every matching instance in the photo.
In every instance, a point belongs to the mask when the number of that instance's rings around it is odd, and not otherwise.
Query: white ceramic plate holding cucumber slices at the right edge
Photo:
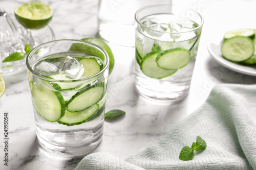
[[[209,43],[207,45],[208,51],[215,61],[233,71],[237,71],[245,75],[256,76],[256,66],[240,65],[224,59],[221,54],[221,44],[222,42],[220,42],[219,45],[214,43]]]

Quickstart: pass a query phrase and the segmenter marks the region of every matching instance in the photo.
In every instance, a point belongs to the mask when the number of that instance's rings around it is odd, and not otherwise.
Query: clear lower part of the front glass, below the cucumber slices
[[[104,125],[104,110],[91,122],[75,126],[50,123],[34,110],[36,135],[41,148],[53,154],[87,155],[101,142]]]

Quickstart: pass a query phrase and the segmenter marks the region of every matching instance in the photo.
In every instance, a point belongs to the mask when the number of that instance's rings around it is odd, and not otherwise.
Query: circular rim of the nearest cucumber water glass
[[[106,59],[106,64],[104,65],[104,67],[103,67],[99,72],[97,72],[97,74],[95,74],[95,75],[93,75],[93,76],[90,76],[90,77],[87,77],[87,78],[83,78],[83,79],[77,79],[77,80],[76,80],[76,79],[74,79],[74,80],[56,80],[56,79],[50,79],[50,78],[44,77],[44,76],[40,75],[39,72],[36,72],[36,71],[34,71],[34,70],[32,69],[32,67],[31,67],[30,64],[28,63],[29,57],[32,55],[32,53],[34,54],[34,52],[35,52],[39,47],[44,46],[44,45],[49,44],[49,43],[52,43],[52,42],[58,42],[58,41],[76,41],[76,42],[82,42],[82,43],[91,44],[91,45],[95,46],[96,48],[98,48],[98,50],[100,50],[100,51],[104,54],[105,59]],[[96,57],[97,57],[97,56],[96,56]],[[94,43],[92,43],[92,42],[89,42],[89,41],[83,41],[83,40],[77,40],[77,39],[58,39],[58,40],[53,40],[53,41],[48,41],[48,42],[42,43],[42,44],[40,44],[40,45],[34,47],[33,50],[31,50],[31,51],[29,52],[29,54],[27,55],[27,57],[26,57],[26,66],[27,66],[27,69],[29,69],[29,71],[30,71],[33,75],[39,77],[40,79],[44,79],[44,80],[51,81],[51,82],[57,82],[57,83],[59,83],[59,82],[61,82],[61,83],[72,83],[72,82],[80,82],[80,81],[86,81],[86,80],[93,79],[93,78],[95,78],[95,77],[101,75],[103,72],[105,72],[105,70],[109,67],[109,65],[110,65],[109,55],[108,55],[108,53],[106,53],[106,51],[105,51],[102,47],[100,47],[100,46],[98,46],[98,45],[96,45],[96,44],[94,44]]]

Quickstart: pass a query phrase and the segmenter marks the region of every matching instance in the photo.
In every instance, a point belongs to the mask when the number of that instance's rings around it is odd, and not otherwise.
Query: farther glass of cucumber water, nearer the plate
[[[188,94],[203,18],[182,5],[139,9],[136,19],[135,85],[148,98],[177,102]]]

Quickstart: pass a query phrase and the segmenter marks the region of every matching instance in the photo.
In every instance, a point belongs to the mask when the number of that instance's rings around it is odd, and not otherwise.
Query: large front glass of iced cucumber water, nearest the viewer
[[[39,144],[54,153],[81,155],[103,133],[109,56],[80,40],[35,47],[26,60]]]

